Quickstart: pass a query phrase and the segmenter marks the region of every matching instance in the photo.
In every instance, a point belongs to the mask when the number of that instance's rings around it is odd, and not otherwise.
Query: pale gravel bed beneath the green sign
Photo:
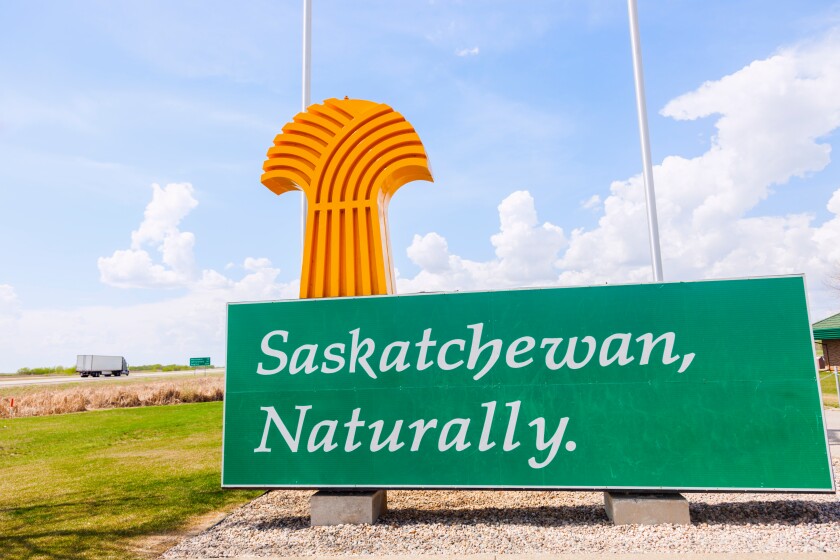
[[[834,461],[835,480],[840,461]],[[836,495],[684,494],[691,525],[614,526],[601,492],[388,491],[375,525],[309,526],[274,490],[162,558],[358,554],[840,552]]]

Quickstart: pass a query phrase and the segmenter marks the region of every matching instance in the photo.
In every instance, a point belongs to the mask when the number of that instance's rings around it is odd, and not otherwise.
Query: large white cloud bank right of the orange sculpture
[[[654,169],[666,279],[806,273],[814,315],[836,308],[824,281],[840,263],[840,189],[822,223],[810,213],[756,213],[774,186],[829,164],[831,146],[823,139],[840,127],[838,53],[840,32],[833,32],[665,106],[662,114],[677,120],[717,115],[706,153],[669,156]],[[495,259],[468,261],[450,254],[437,234],[417,236],[409,257],[421,271],[399,286],[418,291],[649,281],[641,176],[613,182],[603,201],[595,194],[583,206],[601,212],[598,225],[573,230],[566,240],[560,228],[537,225],[527,192],[514,193],[499,207],[502,227],[491,239]]]

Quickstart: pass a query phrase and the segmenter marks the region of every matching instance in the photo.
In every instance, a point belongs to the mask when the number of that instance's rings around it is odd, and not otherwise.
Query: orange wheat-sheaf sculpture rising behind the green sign
[[[414,128],[382,103],[327,99],[274,139],[262,184],[301,190],[308,211],[301,298],[392,294],[388,202],[411,181],[433,181]]]

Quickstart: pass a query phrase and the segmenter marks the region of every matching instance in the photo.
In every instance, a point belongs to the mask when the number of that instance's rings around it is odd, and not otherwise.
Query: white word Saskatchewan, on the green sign
[[[484,377],[500,361],[504,354],[504,364],[511,369],[524,368],[534,364],[544,365],[549,370],[567,368],[580,369],[590,362],[601,367],[612,364],[626,366],[636,361],[640,366],[647,365],[654,350],[660,346],[657,357],[664,365],[680,361],[680,355],[674,354],[676,335],[666,332],[656,338],[652,333],[634,336],[632,333],[616,333],[602,340],[593,336],[579,338],[543,338],[537,343],[532,336],[519,337],[509,344],[499,338],[482,340],[484,324],[467,325],[471,336],[438,341],[433,338],[432,329],[425,329],[422,338],[416,342],[396,340],[384,347],[372,338],[363,338],[361,329],[349,331],[349,340],[334,342],[323,348],[318,344],[295,344],[288,331],[275,330],[266,334],[260,345],[264,355],[273,358],[257,364],[259,375],[274,375],[288,366],[292,375],[301,371],[313,373],[336,373],[346,370],[355,373],[358,369],[376,379],[378,373],[391,370],[402,372],[409,368],[423,371],[437,367],[442,371],[466,368],[475,372],[473,379]],[[469,340],[468,340],[469,339]],[[287,348],[291,346],[291,358]],[[683,373],[694,360],[694,354],[685,354],[679,364],[678,373]]]

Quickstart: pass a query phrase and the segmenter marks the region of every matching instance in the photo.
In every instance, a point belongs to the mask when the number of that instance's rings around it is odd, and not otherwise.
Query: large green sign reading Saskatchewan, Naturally
[[[231,304],[226,487],[831,491],[800,276]]]

